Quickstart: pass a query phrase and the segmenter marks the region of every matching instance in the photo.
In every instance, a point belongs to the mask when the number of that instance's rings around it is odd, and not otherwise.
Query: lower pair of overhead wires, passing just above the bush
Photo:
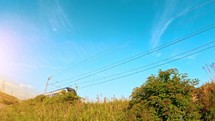
[[[192,56],[192,55],[201,53],[201,52],[203,52],[203,51],[206,51],[206,50],[211,49],[211,48],[214,48],[214,47],[215,47],[215,45],[212,45],[212,46],[210,46],[210,47],[207,47],[207,48],[198,50],[198,51],[196,51],[196,52],[193,52],[193,53],[190,53],[190,54],[181,56],[181,57],[179,57],[179,58],[176,58],[176,59],[167,61],[167,62],[165,62],[165,63],[157,64],[157,65],[155,65],[155,66],[152,66],[152,67],[149,67],[149,68],[146,68],[146,69],[142,69],[142,70],[139,70],[139,71],[135,71],[135,72],[132,72],[132,73],[130,73],[130,74],[126,74],[126,75],[119,76],[119,77],[116,77],[116,78],[112,78],[112,79],[109,79],[109,80],[105,80],[105,81],[101,81],[101,82],[89,84],[89,85],[80,87],[79,89],[83,89],[83,88],[87,88],[87,87],[91,87],[91,86],[95,86],[95,85],[107,83],[107,82],[110,82],[110,81],[118,80],[118,79],[121,79],[121,78],[129,77],[129,76],[132,76],[132,75],[135,75],[135,74],[138,74],[138,73],[147,71],[147,70],[151,70],[151,69],[153,69],[153,68],[157,68],[157,67],[159,67],[159,66],[167,65],[167,64],[169,64],[169,63],[173,63],[173,62],[175,62],[175,61],[178,61],[178,60],[181,60],[181,59],[183,59],[183,58],[186,58],[186,57],[189,57],[189,56]]]

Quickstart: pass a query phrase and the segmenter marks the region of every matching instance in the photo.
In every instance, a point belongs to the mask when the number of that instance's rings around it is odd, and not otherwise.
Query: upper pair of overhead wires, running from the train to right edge
[[[213,29],[213,28],[215,28],[215,24],[212,24],[212,25],[210,25],[210,26],[201,28],[201,29],[199,29],[199,30],[197,30],[197,31],[195,31],[195,32],[192,32],[192,33],[190,33],[190,34],[188,34],[188,35],[186,35],[186,36],[184,36],[184,37],[182,37],[182,38],[180,38],[180,39],[176,39],[176,40],[170,41],[170,42],[168,42],[168,43],[166,43],[166,44],[163,44],[163,45],[158,46],[158,47],[156,47],[156,48],[153,48],[153,49],[151,49],[151,50],[148,50],[148,51],[145,51],[145,52],[141,52],[141,53],[136,54],[136,55],[134,55],[134,56],[131,56],[131,57],[129,57],[129,58],[123,59],[123,60],[120,61],[120,62],[111,64],[111,65],[109,65],[109,66],[102,67],[102,68],[98,69],[97,71],[85,73],[85,74],[81,75],[80,78],[75,79],[75,80],[73,80],[73,81],[70,81],[70,80],[69,80],[70,78],[68,78],[68,79],[65,79],[65,80],[63,80],[63,81],[61,81],[61,82],[64,82],[64,81],[66,81],[66,80],[68,80],[68,81],[67,81],[68,83],[65,83],[65,84],[70,84],[71,82],[73,82],[73,83],[78,82],[78,81],[83,80],[83,79],[85,79],[85,78],[94,76],[94,75],[99,74],[99,73],[102,73],[102,72],[104,72],[104,71],[107,71],[107,70],[116,68],[116,67],[118,67],[118,66],[124,65],[124,64],[126,64],[126,63],[132,62],[132,61],[134,61],[134,60],[140,59],[140,58],[142,58],[142,57],[144,57],[144,56],[150,55],[150,54],[152,54],[152,53],[154,53],[154,52],[157,52],[157,51],[159,51],[159,50],[162,50],[162,49],[165,49],[165,48],[167,48],[167,47],[173,46],[173,45],[178,44],[178,43],[180,43],[180,42],[182,42],[182,41],[185,41],[185,40],[187,40],[187,39],[189,39],[189,38],[192,38],[192,37],[197,36],[197,35],[199,35],[199,34],[201,34],[201,33],[204,33],[204,32],[206,32],[206,31],[209,31],[209,30],[211,30],[211,29]],[[61,82],[57,82],[57,83],[61,83]],[[65,84],[63,84],[63,85],[65,85]],[[63,86],[63,85],[62,85],[62,86]],[[61,86],[61,85],[60,85],[60,86]]]

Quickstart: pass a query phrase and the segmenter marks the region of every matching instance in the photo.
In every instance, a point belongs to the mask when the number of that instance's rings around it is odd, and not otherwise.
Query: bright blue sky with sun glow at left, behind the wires
[[[50,83],[55,86],[48,90],[77,85],[79,95],[89,98],[129,97],[133,88],[159,69],[178,68],[202,84],[209,80],[202,66],[214,62],[214,48],[81,88],[214,41],[215,29],[75,84],[72,81],[214,24],[214,6],[214,0],[0,0],[0,76],[38,92],[53,76]]]

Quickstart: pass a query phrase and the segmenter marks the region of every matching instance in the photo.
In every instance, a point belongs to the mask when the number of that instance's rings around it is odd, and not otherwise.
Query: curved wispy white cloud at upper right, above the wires
[[[196,3],[185,6],[181,10],[179,9],[177,0],[166,0],[164,10],[159,13],[159,16],[154,21],[154,25],[152,26],[152,33],[151,33],[151,48],[155,48],[159,45],[161,41],[161,37],[165,34],[168,27],[178,18],[187,15],[188,13],[204,7],[214,0],[209,0],[202,3]]]

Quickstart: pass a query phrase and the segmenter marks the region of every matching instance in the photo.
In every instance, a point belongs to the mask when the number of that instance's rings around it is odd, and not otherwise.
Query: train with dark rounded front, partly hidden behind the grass
[[[64,88],[61,88],[61,89],[58,89],[58,90],[54,90],[54,91],[51,91],[51,92],[47,92],[45,93],[44,95],[45,96],[49,96],[49,97],[52,97],[52,96],[55,96],[55,95],[58,95],[60,94],[61,92],[65,91],[65,93],[68,93],[68,92],[73,92],[75,93],[75,95],[77,95],[76,91],[71,88],[71,87],[64,87]]]

